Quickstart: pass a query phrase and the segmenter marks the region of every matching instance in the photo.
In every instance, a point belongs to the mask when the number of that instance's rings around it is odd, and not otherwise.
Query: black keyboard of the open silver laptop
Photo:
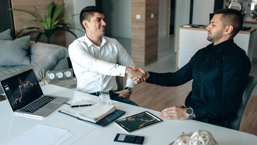
[[[49,102],[53,101],[56,97],[51,96],[43,96],[39,98],[38,100],[34,101],[30,105],[27,105],[26,107],[22,108],[20,111],[22,112],[28,112],[28,113],[34,113],[38,109],[42,108]]]

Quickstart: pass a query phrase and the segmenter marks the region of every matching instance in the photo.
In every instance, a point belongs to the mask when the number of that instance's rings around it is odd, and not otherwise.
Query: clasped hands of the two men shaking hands
[[[135,84],[145,82],[149,78],[149,72],[145,71],[142,68],[127,67],[125,70],[125,74],[129,75],[129,78]]]

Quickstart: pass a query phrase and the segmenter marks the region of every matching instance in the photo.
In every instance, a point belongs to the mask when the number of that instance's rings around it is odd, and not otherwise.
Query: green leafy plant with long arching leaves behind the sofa
[[[26,29],[37,29],[39,31],[29,31],[29,32],[26,32],[24,34],[22,34],[20,37],[22,36],[25,36],[27,34],[30,34],[30,33],[38,33],[37,36],[36,36],[36,42],[39,41],[39,39],[41,38],[42,35],[45,36],[45,38],[47,39],[47,43],[51,43],[52,41],[52,38],[55,36],[55,34],[58,32],[58,31],[67,31],[67,32],[70,32],[71,34],[73,34],[76,38],[77,38],[77,35],[74,34],[71,29],[77,29],[79,31],[81,31],[80,29],[78,28],[75,28],[75,27],[69,27],[71,24],[69,23],[59,23],[60,20],[64,20],[64,19],[67,19],[67,18],[70,18],[72,16],[75,16],[75,15],[78,15],[78,14],[74,14],[74,15],[69,15],[69,16],[66,16],[66,17],[63,17],[63,18],[60,18],[58,20],[56,20],[58,18],[58,16],[61,14],[61,11],[63,10],[64,8],[64,5],[65,4],[62,4],[56,11],[55,11],[55,8],[56,6],[53,7],[53,1],[48,5],[48,8],[46,10],[46,14],[45,14],[45,17],[42,15],[42,13],[36,8],[33,6],[33,8],[35,8],[40,16],[42,17],[42,19],[38,18],[36,15],[34,14],[31,14],[30,12],[27,12],[27,11],[24,11],[24,10],[19,10],[19,9],[14,9],[14,8],[9,8],[7,10],[14,10],[14,11],[23,11],[25,12],[26,14],[36,18],[36,20],[31,20],[31,21],[28,21],[28,23],[24,26],[24,29],[22,29],[20,32],[26,30]],[[44,27],[44,30],[38,28],[38,27],[27,27],[30,23],[32,22],[39,22],[43,27]],[[17,33],[16,37],[20,34],[20,32]],[[83,32],[83,31],[81,31]]]

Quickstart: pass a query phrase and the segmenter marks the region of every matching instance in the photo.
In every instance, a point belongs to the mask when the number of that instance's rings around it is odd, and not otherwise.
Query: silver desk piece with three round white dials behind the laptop
[[[73,69],[60,69],[49,71],[47,75],[48,82],[56,82],[60,80],[73,79]]]

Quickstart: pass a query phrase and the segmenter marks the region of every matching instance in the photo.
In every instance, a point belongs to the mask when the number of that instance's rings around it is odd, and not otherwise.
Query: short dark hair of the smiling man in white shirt
[[[80,24],[84,30],[85,30],[85,27],[83,26],[82,22],[84,20],[87,20],[90,22],[90,19],[93,17],[94,13],[102,14],[103,9],[96,6],[87,6],[80,11]]]

